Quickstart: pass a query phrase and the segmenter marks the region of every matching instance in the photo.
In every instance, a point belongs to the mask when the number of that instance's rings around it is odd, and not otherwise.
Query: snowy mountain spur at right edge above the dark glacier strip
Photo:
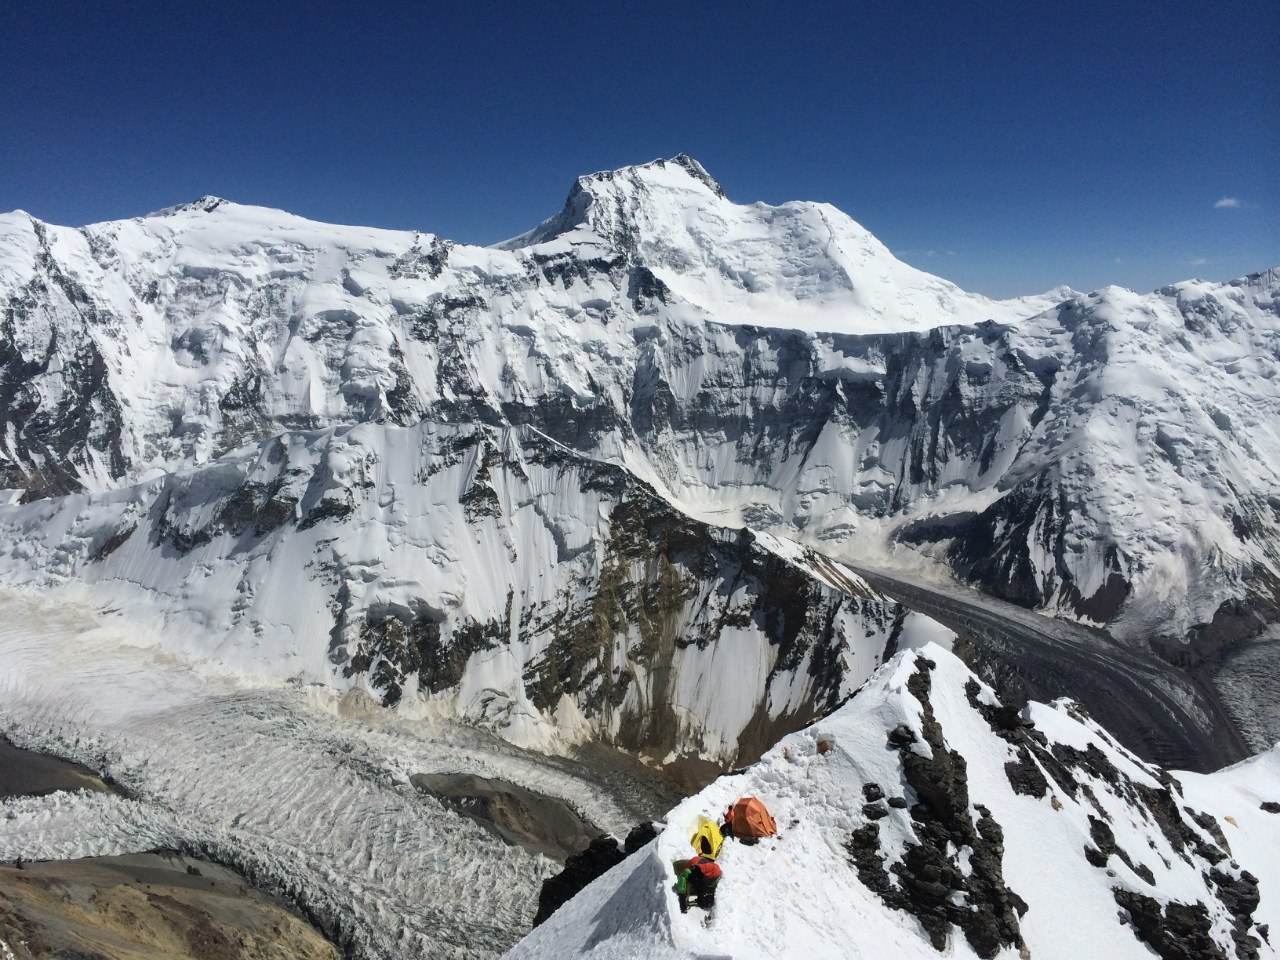
[[[1107,288],[1029,321],[1016,338],[1028,366],[1066,364],[1046,378],[1007,493],[952,532],[952,563],[1175,659],[1275,620],[1277,305],[1268,271],[1151,296]]]

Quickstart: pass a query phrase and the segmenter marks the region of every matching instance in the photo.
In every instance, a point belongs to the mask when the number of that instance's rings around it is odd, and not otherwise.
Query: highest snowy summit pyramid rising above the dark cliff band
[[[708,319],[826,333],[1011,321],[1071,293],[968,293],[901,262],[829,204],[732,204],[685,155],[582,177],[557,216],[499,246],[623,251]]]

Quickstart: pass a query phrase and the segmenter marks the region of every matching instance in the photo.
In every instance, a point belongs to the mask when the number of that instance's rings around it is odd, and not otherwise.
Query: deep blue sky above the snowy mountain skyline
[[[0,209],[492,243],[685,151],[995,296],[1280,265],[1275,0],[201,8],[6,4]]]

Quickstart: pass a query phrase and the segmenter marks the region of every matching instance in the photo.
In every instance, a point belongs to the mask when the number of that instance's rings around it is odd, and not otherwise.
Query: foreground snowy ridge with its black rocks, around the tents
[[[709,922],[682,915],[686,827],[739,796],[780,833],[728,841]],[[1071,701],[1002,707],[928,645],[682,803],[508,956],[1275,956],[1277,799],[1276,750],[1170,774]]]

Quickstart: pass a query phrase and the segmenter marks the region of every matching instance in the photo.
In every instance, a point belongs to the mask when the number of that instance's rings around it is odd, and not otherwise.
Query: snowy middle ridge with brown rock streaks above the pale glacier
[[[0,530],[6,579],[159,613],[186,660],[549,751],[750,759],[916,632],[822,557],[690,520],[529,428],[291,433],[0,507]]]

